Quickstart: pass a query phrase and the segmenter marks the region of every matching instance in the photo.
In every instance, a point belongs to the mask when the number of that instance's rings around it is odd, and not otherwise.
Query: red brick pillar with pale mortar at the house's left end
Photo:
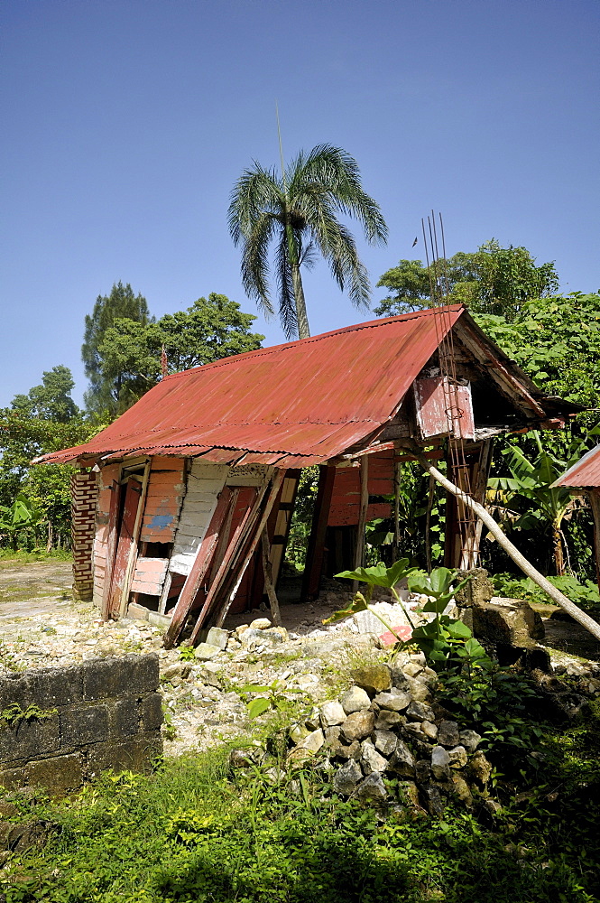
[[[71,536],[73,595],[91,600],[94,591],[92,550],[96,526],[97,479],[93,471],[71,477]]]

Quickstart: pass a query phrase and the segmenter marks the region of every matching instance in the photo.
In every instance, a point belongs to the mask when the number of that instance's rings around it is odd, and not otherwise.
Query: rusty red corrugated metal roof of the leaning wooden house
[[[301,467],[374,433],[464,312],[429,309],[248,351],[154,386],[84,445],[37,461],[179,454]]]

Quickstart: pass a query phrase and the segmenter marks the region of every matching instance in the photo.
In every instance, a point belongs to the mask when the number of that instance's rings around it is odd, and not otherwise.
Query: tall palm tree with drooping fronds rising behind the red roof
[[[235,183],[229,204],[229,231],[243,243],[242,280],[246,293],[269,314],[269,247],[275,247],[279,313],[291,339],[310,335],[300,265],[310,266],[315,249],[331,267],[351,301],[368,306],[370,283],[356,253],[355,239],[338,215],[358,219],[371,244],[384,243],[387,226],[379,206],[363,191],[354,157],[339,147],[318,144],[300,154],[282,175],[254,162]]]

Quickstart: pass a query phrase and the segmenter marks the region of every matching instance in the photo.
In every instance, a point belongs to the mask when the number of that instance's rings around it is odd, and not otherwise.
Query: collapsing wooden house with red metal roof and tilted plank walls
[[[578,410],[544,396],[461,305],[358,323],[165,377],[70,461],[75,588],[103,618],[171,616],[168,644],[274,600],[300,470],[318,464],[302,599],[362,562],[391,515],[400,461],[448,459],[484,498],[498,433]],[[460,455],[448,450],[460,449]],[[383,498],[387,497],[387,498]],[[446,563],[477,563],[480,527],[448,499]]]

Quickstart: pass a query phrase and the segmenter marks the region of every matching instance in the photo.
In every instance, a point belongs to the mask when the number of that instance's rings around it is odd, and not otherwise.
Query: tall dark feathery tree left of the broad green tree
[[[145,325],[151,321],[148,303],[141,294],[134,294],[131,285],[121,281],[115,283],[108,295],[98,295],[94,310],[86,316],[81,358],[84,363],[89,388],[84,399],[89,413],[104,413],[115,416],[136,393],[144,391],[144,386],[134,379],[127,380],[120,373],[106,377],[100,352],[106,330],[115,320],[125,319]],[[130,402],[129,402],[130,403]]]

